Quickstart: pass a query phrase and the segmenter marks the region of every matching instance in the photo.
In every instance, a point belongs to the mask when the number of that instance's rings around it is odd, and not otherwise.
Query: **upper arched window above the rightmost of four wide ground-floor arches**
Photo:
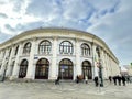
[[[81,55],[82,56],[89,56],[90,55],[90,47],[86,43],[81,44]]]

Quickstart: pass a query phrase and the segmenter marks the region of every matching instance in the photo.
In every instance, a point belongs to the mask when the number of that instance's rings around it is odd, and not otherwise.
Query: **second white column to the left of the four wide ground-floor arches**
[[[6,73],[7,77],[11,76],[13,52],[15,52],[14,47],[11,48],[11,54],[10,54],[10,57],[9,57],[8,68],[7,68],[7,73]]]

